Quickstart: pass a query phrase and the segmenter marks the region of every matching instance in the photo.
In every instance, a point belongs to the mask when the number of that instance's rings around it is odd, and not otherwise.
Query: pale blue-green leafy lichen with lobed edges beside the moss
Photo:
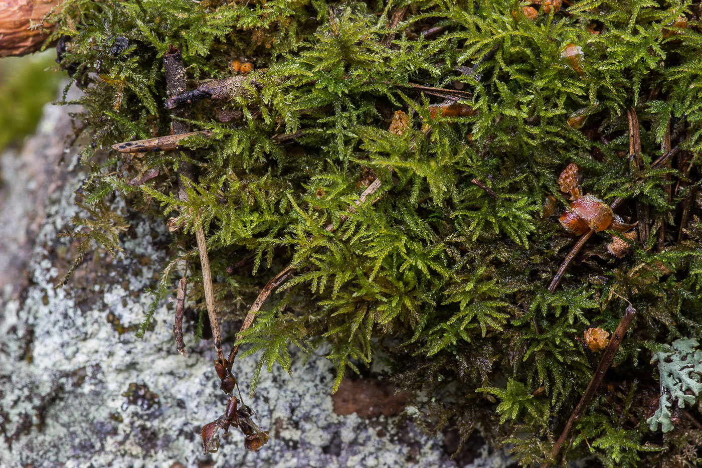
[[[657,360],[661,372],[661,403],[647,420],[651,431],[658,429],[659,422],[663,432],[673,430],[670,422],[673,400],[677,398],[680,408],[684,408],[685,403],[694,405],[695,397],[702,391],[702,351],[697,349],[698,345],[694,338],[677,339],[673,346],[666,344],[663,351],[654,353],[651,363]]]

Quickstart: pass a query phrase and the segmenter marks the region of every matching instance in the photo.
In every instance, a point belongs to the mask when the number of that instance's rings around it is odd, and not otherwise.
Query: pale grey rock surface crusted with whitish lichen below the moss
[[[144,339],[108,322],[110,313],[127,329],[143,320],[144,289],[167,260],[165,227],[123,207],[133,226],[124,255],[88,254],[55,288],[76,248],[58,233],[84,178],[74,151],[64,152],[70,132],[67,110],[49,106],[25,148],[0,156],[0,467],[456,466],[439,438],[401,418],[337,415],[331,364],[294,353],[293,373],[264,371],[246,401],[270,443],[249,453],[230,431],[218,453],[202,455],[199,429],[225,406],[211,344],[186,332],[180,356],[168,301]],[[255,366],[253,357],[234,365],[244,396]],[[155,395],[130,400],[130,384]],[[483,448],[468,466],[506,464]]]

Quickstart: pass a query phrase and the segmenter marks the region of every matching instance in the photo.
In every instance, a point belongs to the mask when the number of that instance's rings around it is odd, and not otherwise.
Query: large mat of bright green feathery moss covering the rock
[[[526,466],[550,453],[600,358],[583,331],[613,332],[630,302],[635,321],[565,457],[694,463],[698,407],[674,436],[647,428],[660,394],[645,349],[702,332],[700,6],[586,0],[530,19],[523,3],[69,0],[55,36],[67,38],[62,65],[86,91],[86,204],[119,190],[174,218],[174,261],[190,261],[189,299],[204,310],[192,235],[201,223],[225,319],[243,318],[267,280],[295,265],[244,337],[261,367],[288,370],[291,344],[322,349],[336,389],[383,351],[428,429],[455,425],[465,441],[481,422]],[[191,129],[211,130],[189,138],[190,151],[98,152],[168,134],[170,45],[191,89],[231,74],[234,60],[258,71],[246,93],[188,106]],[[439,111],[447,94],[470,112]],[[407,128],[391,132],[398,110]],[[635,157],[628,111],[639,120]],[[183,202],[186,163],[196,178]],[[570,163],[584,194],[623,197],[615,212],[642,238],[593,235],[551,293],[574,244],[550,208],[569,202],[558,178]],[[380,189],[348,212],[373,178]],[[93,223],[95,238],[114,239],[106,233],[118,225]],[[613,236],[631,245],[622,259],[607,253]]]

